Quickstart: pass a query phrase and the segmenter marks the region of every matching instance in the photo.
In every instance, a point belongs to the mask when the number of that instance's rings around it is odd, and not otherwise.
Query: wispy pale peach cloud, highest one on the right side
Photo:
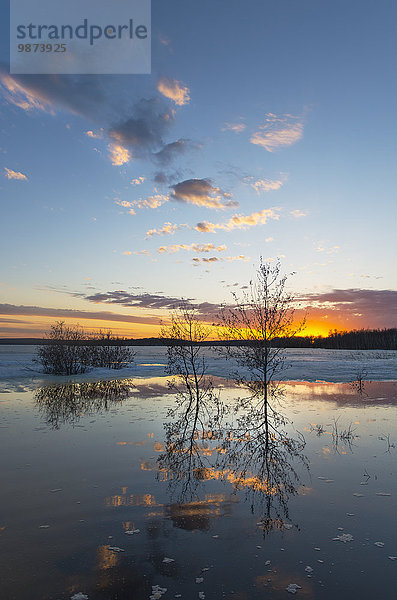
[[[250,142],[262,146],[268,152],[291,146],[303,136],[303,122],[300,117],[285,114],[277,116],[267,113],[265,125],[252,134]]]

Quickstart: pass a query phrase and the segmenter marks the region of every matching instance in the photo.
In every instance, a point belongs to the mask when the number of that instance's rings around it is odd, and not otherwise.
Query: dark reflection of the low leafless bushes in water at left
[[[35,392],[35,400],[47,425],[75,425],[90,413],[107,411],[126,399],[133,388],[131,379],[48,385]]]

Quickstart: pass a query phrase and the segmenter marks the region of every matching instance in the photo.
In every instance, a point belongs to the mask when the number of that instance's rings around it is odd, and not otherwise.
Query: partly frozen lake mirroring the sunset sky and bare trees
[[[288,350],[265,422],[209,350],[197,414],[164,348],[75,377],[34,350],[0,346],[2,598],[395,594],[396,352]]]

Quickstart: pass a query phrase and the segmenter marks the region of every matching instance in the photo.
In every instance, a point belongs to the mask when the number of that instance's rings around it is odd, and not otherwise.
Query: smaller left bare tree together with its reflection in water
[[[168,351],[167,373],[172,376],[168,385],[176,393],[176,402],[168,412],[165,452],[158,464],[174,483],[183,481],[183,497],[192,493],[208,466],[203,460],[205,445],[220,435],[222,405],[207,375],[201,345],[209,334],[210,329],[186,304],[174,310],[170,325],[161,330]]]

